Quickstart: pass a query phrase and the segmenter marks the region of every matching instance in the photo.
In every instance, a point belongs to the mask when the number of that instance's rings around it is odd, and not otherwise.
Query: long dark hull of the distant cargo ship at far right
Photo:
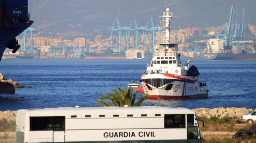
[[[203,53],[201,57],[209,60],[256,60],[256,54]]]

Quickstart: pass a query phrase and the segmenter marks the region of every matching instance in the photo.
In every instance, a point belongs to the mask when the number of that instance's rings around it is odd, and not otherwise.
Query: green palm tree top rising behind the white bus
[[[127,90],[126,88],[118,88],[112,89],[114,93],[105,94],[101,96],[100,99],[95,99],[94,101],[100,102],[100,104],[96,104],[96,106],[120,106],[123,107],[124,105],[128,106],[140,106],[142,101],[146,99],[149,94],[143,94],[141,98],[135,103],[135,98],[138,92],[133,92],[133,88],[129,87]],[[112,104],[104,99],[109,99],[112,101]]]

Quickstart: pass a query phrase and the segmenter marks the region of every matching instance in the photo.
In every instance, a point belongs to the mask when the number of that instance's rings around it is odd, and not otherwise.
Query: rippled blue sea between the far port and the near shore
[[[183,63],[187,59],[181,59]],[[96,106],[94,99],[127,87],[140,79],[151,59],[16,59],[2,60],[0,73],[25,89],[0,95],[0,111],[37,107]],[[214,108],[256,108],[256,61],[208,61],[192,59],[209,97],[187,100],[149,100],[142,105]],[[138,94],[138,97],[142,94]]]

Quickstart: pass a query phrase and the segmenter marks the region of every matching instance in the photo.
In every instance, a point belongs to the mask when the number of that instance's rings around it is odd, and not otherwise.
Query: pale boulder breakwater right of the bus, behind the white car
[[[241,115],[247,114],[252,111],[256,111],[256,109],[246,109],[246,108],[236,108],[236,107],[218,107],[218,108],[196,108],[192,109],[196,112],[197,117],[219,117],[222,118],[230,118],[230,119],[241,119]]]

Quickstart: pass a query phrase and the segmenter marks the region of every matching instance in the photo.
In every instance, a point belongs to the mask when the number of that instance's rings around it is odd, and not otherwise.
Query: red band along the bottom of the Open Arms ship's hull
[[[197,95],[190,95],[190,96],[166,96],[166,95],[151,95],[148,96],[148,99],[200,99],[200,98],[207,98],[208,93],[206,94],[197,94]]]

